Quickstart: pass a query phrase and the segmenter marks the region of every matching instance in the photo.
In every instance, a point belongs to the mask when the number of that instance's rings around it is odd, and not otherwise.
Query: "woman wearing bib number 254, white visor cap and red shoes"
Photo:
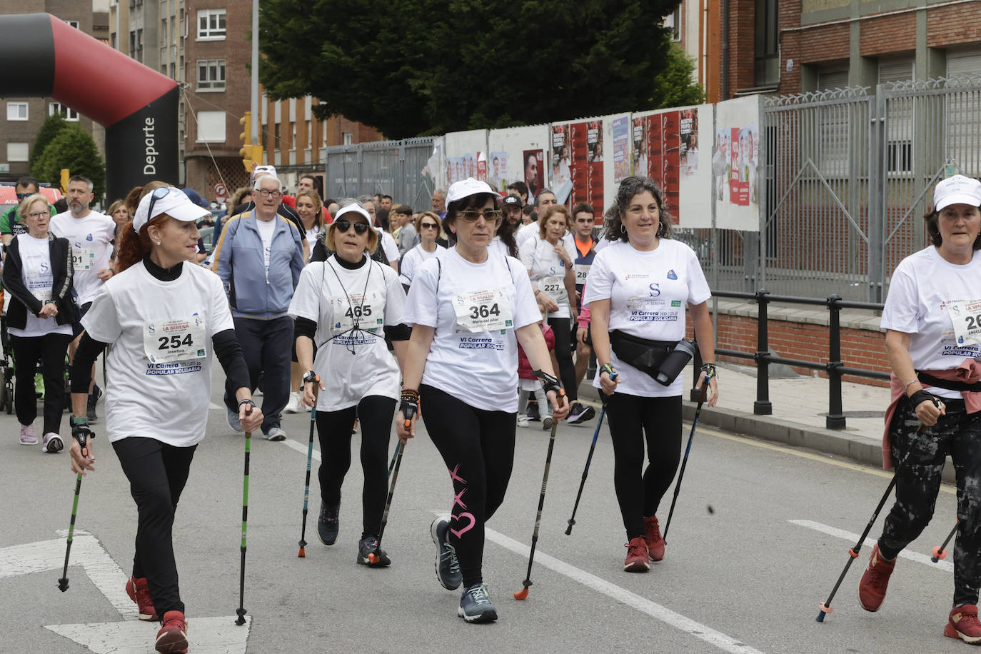
[[[92,441],[84,448],[78,442],[78,436],[91,435],[85,418],[89,375],[95,358],[113,344],[106,363],[106,430],[138,515],[127,592],[140,620],[163,622],[158,652],[187,651],[172,528],[208,422],[212,352],[237,387],[242,427],[251,431],[262,424],[221,280],[193,263],[183,265],[195,259],[195,221],[206,213],[173,186],[143,196],[120,243],[118,274],[82,319],[85,334],[72,368],[72,471],[85,474],[95,470]]]

